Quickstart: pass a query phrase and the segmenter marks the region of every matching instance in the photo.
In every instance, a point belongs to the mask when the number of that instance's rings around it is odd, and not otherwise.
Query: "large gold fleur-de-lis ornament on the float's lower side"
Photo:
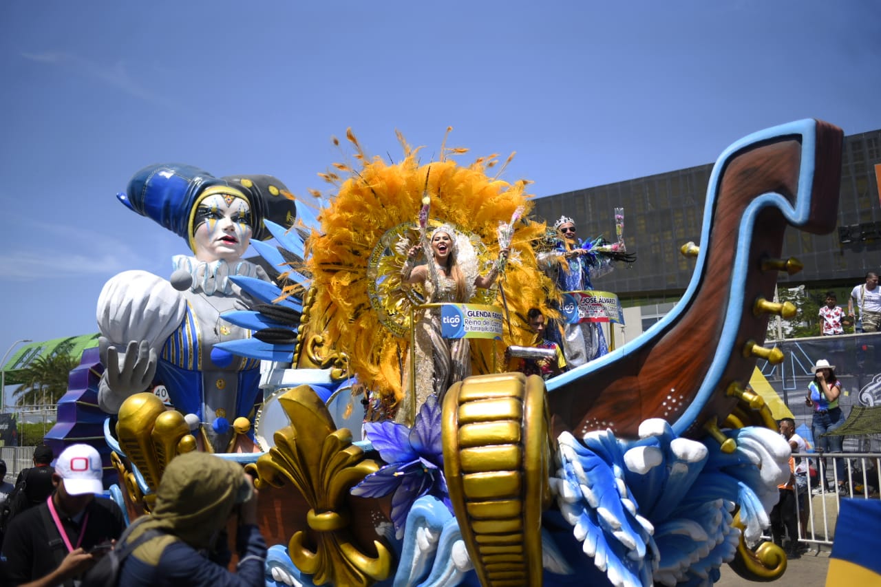
[[[349,490],[379,464],[364,458],[352,444],[352,433],[337,429],[324,403],[307,385],[278,398],[292,424],[276,431],[275,447],[248,469],[257,473],[256,487],[291,483],[311,508],[306,531],[288,543],[291,560],[315,584],[367,587],[391,575],[392,554],[374,540],[376,556],[355,544],[348,506]],[[311,550],[307,545],[315,545]]]

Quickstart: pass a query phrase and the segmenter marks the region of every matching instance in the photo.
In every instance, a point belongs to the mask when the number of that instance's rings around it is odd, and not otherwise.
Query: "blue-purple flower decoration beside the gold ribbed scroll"
[[[413,502],[423,495],[433,495],[452,511],[447,479],[443,476],[441,444],[441,406],[429,396],[419,409],[413,427],[390,420],[367,422],[364,432],[386,464],[367,475],[352,494],[361,497],[391,498],[391,521],[396,538],[403,538],[403,528]]]

